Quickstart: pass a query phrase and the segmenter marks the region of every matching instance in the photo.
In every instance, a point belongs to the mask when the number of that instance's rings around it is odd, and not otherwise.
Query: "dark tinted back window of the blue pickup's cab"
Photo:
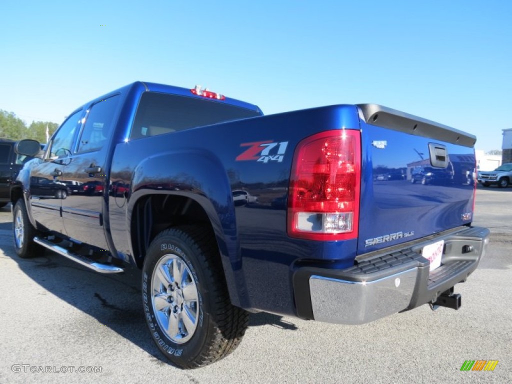
[[[260,115],[255,111],[217,101],[145,92],[137,109],[130,138],[139,139],[254,116]]]

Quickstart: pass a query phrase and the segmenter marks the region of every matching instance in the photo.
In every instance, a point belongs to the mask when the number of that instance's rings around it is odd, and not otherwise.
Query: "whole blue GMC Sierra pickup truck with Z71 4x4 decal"
[[[45,151],[16,144],[35,158],[12,188],[15,249],[141,268],[148,328],[182,368],[232,352],[249,312],[362,324],[458,309],[489,235],[471,225],[475,141],[377,104],[263,116],[135,82],[70,113]]]

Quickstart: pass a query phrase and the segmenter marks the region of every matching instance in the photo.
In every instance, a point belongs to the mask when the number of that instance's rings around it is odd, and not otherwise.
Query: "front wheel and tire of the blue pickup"
[[[27,207],[23,199],[19,199],[14,205],[13,214],[13,233],[14,249],[16,254],[23,259],[39,256],[43,249],[39,244],[34,243],[34,237],[38,231],[32,226],[27,214]]]

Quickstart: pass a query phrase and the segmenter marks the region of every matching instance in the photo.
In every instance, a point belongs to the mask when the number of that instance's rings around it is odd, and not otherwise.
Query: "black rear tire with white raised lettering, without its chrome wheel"
[[[146,323],[160,351],[182,368],[204,366],[228,355],[238,346],[247,327],[247,312],[233,307],[229,301],[216,247],[215,238],[209,231],[184,226],[162,231],[146,252],[142,271]],[[151,301],[153,271],[168,253],[179,255],[185,262],[198,289],[198,325],[194,335],[184,344],[174,343],[160,330]]]

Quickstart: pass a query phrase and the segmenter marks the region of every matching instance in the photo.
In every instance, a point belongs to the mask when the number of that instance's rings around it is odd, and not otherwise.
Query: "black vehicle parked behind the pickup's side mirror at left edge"
[[[14,140],[0,139],[0,208],[11,201],[11,185],[23,164],[33,157],[14,152]]]

